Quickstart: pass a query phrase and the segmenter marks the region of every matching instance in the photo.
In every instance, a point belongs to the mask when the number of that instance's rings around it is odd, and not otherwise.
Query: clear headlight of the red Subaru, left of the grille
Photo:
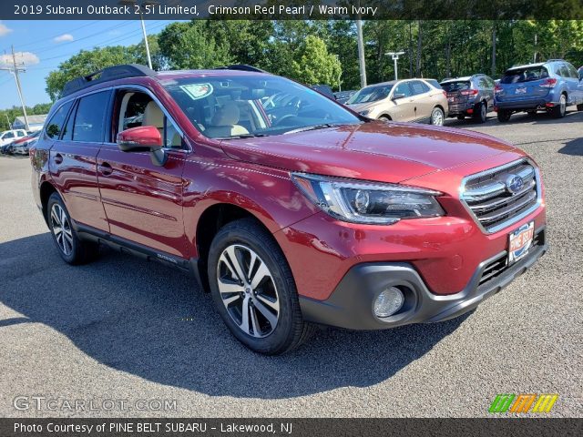
[[[400,219],[444,216],[435,196],[424,188],[292,173],[293,182],[335,219],[389,225]]]

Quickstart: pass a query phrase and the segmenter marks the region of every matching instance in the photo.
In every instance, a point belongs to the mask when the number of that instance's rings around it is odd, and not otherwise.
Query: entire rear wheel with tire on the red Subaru
[[[56,192],[48,198],[46,216],[56,249],[65,262],[72,265],[85,264],[97,257],[98,245],[78,238],[71,226],[65,203]]]

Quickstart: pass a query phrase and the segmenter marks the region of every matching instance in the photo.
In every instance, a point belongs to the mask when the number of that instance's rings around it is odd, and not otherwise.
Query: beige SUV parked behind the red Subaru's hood
[[[442,126],[448,111],[441,86],[425,79],[392,80],[364,86],[346,102],[364,117]]]

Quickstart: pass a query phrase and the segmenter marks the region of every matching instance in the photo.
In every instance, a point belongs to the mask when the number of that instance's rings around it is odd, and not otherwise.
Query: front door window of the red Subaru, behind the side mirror
[[[164,147],[183,148],[178,129],[148,94],[126,92],[119,103],[118,132],[140,126],[158,128]]]

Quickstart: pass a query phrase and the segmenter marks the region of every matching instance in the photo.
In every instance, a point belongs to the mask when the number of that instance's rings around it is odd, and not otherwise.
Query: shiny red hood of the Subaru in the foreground
[[[476,132],[378,121],[223,140],[221,147],[230,158],[262,166],[393,183],[514,149]]]

